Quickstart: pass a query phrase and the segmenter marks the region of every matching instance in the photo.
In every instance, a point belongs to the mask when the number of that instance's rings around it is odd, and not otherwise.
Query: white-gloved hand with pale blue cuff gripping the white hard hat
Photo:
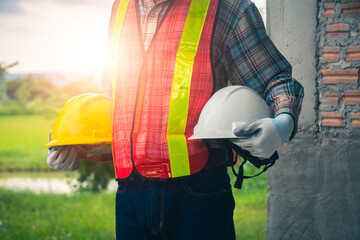
[[[230,140],[255,157],[269,158],[289,140],[293,129],[292,117],[284,113],[276,118],[263,118],[245,123],[234,129],[234,134],[241,138]]]

